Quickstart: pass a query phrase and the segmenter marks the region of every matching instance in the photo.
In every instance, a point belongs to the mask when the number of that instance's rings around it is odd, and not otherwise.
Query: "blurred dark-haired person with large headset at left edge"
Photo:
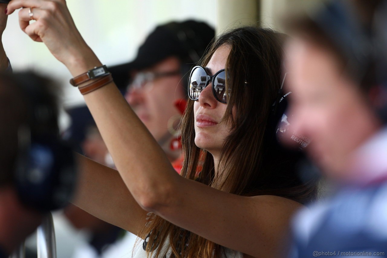
[[[74,157],[59,139],[53,88],[31,72],[0,75],[0,257],[74,191]]]

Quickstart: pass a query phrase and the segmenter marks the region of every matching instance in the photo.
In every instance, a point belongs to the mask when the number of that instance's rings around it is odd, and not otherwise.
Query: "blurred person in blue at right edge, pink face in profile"
[[[295,218],[290,257],[387,257],[386,17],[385,0],[341,0],[290,23],[289,132],[337,184]]]

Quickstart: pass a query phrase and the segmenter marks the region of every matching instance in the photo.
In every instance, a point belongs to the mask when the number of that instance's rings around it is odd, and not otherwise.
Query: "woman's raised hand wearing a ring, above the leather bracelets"
[[[34,41],[44,42],[70,71],[72,65],[87,58],[93,59],[93,64],[98,60],[75,27],[65,0],[12,0],[7,14],[19,8],[20,28]],[[30,23],[32,19],[36,22]]]

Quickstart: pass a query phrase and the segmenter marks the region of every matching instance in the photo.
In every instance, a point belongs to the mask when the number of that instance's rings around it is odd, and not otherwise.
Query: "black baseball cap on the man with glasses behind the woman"
[[[139,47],[132,62],[109,67],[118,88],[128,85],[129,72],[152,67],[167,57],[178,57],[184,64],[195,64],[215,36],[205,22],[187,20],[157,26]]]

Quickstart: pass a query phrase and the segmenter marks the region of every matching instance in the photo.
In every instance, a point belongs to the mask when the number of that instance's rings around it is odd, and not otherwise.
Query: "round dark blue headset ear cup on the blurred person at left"
[[[15,184],[26,206],[40,212],[64,207],[74,192],[75,179],[74,154],[57,139],[33,139],[20,150]]]

